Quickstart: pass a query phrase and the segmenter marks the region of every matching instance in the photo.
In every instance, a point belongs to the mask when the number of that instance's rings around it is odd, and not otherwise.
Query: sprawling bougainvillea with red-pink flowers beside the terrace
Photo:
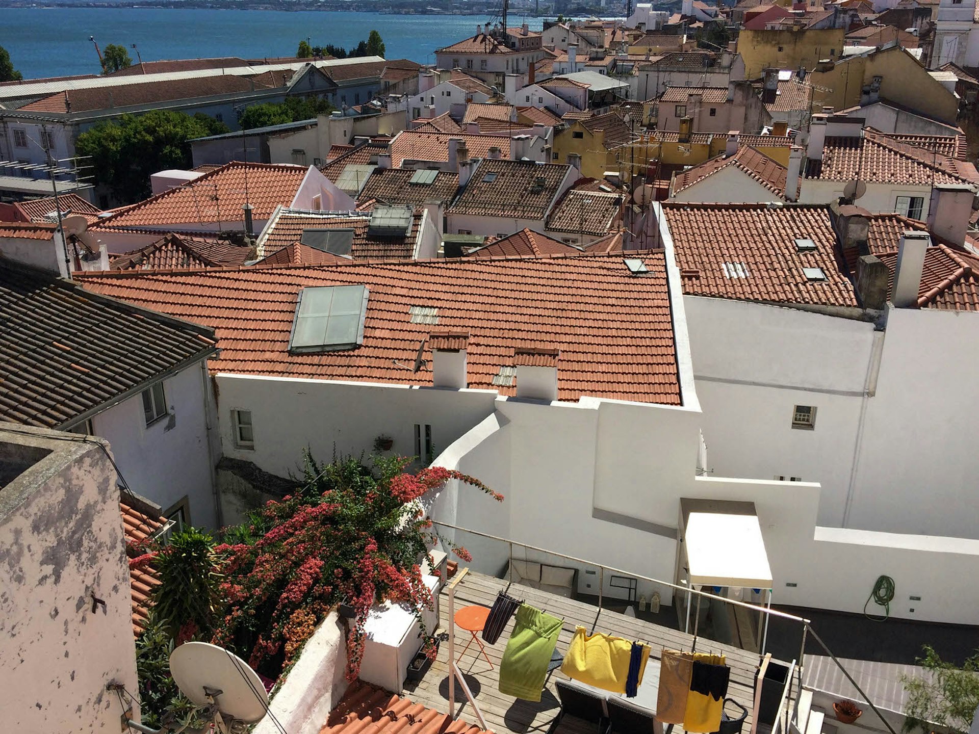
[[[377,600],[407,603],[421,619],[431,604],[419,563],[436,541],[418,500],[448,480],[482,482],[442,468],[404,474],[410,460],[376,458],[317,464],[306,454],[304,482],[268,502],[250,523],[214,547],[223,618],[212,641],[271,674],[290,665],[316,625],[341,601],[354,611],[348,635],[350,680],[363,657],[363,623]],[[448,543],[464,561],[469,552]],[[426,652],[434,655],[429,644]]]

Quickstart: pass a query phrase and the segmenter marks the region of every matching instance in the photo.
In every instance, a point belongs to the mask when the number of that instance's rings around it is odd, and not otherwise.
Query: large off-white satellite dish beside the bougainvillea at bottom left
[[[207,642],[185,642],[170,653],[170,675],[197,706],[213,706],[225,731],[233,720],[253,723],[268,711],[258,674],[237,655]]]

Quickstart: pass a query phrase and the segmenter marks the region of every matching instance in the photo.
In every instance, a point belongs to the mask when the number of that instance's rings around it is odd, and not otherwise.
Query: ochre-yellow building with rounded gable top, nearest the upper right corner
[[[880,78],[875,81],[875,77]],[[908,51],[898,46],[816,67],[808,81],[821,88],[816,101],[834,110],[859,105],[862,88],[879,83],[876,94],[880,99],[951,125],[957,124],[956,95],[929,74],[928,69]]]

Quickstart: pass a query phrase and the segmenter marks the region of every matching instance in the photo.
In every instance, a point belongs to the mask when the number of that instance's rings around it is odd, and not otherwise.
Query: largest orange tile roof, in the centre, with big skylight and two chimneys
[[[679,404],[665,253],[641,257],[650,273],[640,277],[621,256],[577,255],[84,273],[78,282],[213,325],[221,344],[214,371],[431,385],[431,372],[392,361],[413,360],[419,341],[435,330],[411,322],[409,309],[423,305],[436,309],[439,331],[469,332],[470,388],[514,394],[512,386],[494,386],[493,377],[513,364],[515,347],[544,345],[561,350],[561,400],[593,395]],[[349,284],[369,288],[363,344],[291,355],[300,289]]]

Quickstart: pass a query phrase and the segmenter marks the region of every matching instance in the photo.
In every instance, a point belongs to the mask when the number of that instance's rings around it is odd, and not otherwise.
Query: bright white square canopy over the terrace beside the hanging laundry
[[[771,588],[769,554],[757,515],[691,512],[684,544],[690,583]]]

